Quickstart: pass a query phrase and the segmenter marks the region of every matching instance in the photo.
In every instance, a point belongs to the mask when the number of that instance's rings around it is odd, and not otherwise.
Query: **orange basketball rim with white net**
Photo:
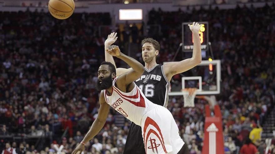
[[[184,106],[183,107],[195,107],[195,96],[197,93],[197,88],[185,88],[182,89]]]

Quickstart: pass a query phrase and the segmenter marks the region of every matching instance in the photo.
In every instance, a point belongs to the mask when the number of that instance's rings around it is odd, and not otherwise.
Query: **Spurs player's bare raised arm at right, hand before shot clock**
[[[194,41],[193,56],[192,58],[184,59],[180,62],[167,63],[163,66],[165,76],[169,81],[175,74],[185,72],[202,62],[202,49],[201,49],[201,43],[200,43],[200,37],[199,37],[199,30],[200,30],[201,24],[193,22],[192,25],[188,25],[188,26],[193,33],[193,41]]]

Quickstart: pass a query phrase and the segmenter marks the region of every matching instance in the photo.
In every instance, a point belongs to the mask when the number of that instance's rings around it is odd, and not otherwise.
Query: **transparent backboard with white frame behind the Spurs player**
[[[163,65],[169,62],[163,62]],[[197,88],[197,95],[216,95],[221,91],[221,61],[203,60],[194,68],[174,77],[170,81],[169,96],[183,95],[181,89]]]

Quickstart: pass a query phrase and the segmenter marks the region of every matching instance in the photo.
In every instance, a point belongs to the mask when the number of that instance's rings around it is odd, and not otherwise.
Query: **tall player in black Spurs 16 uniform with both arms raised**
[[[155,104],[166,107],[168,104],[168,90],[171,78],[175,74],[185,72],[197,66],[202,61],[201,43],[198,33],[201,25],[193,22],[192,25],[188,26],[193,33],[193,56],[180,62],[171,62],[165,65],[157,64],[156,58],[160,50],[158,41],[152,38],[142,40],[142,58],[145,62],[145,71],[135,83],[143,91],[144,95]],[[111,33],[105,41],[105,61],[111,62],[114,65],[113,56],[108,54],[107,50],[117,38],[116,33]],[[117,68],[117,76],[131,69],[132,68]],[[141,132],[140,126],[131,123],[123,154],[145,154]],[[179,153],[189,154],[186,144],[183,145]]]

